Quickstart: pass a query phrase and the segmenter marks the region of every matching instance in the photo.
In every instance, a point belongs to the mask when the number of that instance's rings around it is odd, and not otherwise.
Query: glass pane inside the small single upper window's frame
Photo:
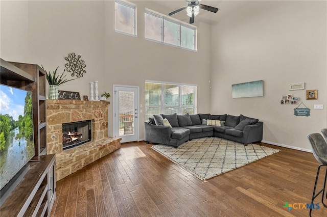
[[[131,35],[136,35],[135,31],[135,8],[133,6],[115,3],[116,7],[116,26],[115,29]]]

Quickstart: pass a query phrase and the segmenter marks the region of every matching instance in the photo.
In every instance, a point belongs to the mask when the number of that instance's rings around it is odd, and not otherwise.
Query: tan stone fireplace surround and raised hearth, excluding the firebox
[[[108,137],[107,101],[46,100],[47,154],[56,154],[57,181],[119,149],[121,138]],[[62,124],[91,120],[90,142],[62,150]]]

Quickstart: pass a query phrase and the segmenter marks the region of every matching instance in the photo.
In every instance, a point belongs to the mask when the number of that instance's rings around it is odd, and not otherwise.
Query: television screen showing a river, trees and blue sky
[[[34,156],[32,93],[0,85],[0,188]]]

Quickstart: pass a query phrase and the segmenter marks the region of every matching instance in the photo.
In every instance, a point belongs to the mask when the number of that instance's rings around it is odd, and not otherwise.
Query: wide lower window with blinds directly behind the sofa
[[[158,114],[196,114],[196,93],[196,85],[146,81],[146,121]]]

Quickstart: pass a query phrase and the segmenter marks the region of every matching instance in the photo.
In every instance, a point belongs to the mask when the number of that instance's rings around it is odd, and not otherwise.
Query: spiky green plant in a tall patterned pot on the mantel
[[[41,65],[42,66],[42,65]],[[43,66],[42,66],[43,68]],[[66,71],[65,69],[63,70],[62,74],[59,76],[57,75],[57,70],[59,66],[56,68],[55,71],[51,74],[50,72],[47,72],[44,68],[44,71],[46,72],[46,80],[48,80],[49,83],[49,99],[58,99],[58,86],[61,84],[64,84],[66,82],[69,82],[70,80],[73,79],[67,79],[65,78],[66,75],[64,75],[64,72]]]

